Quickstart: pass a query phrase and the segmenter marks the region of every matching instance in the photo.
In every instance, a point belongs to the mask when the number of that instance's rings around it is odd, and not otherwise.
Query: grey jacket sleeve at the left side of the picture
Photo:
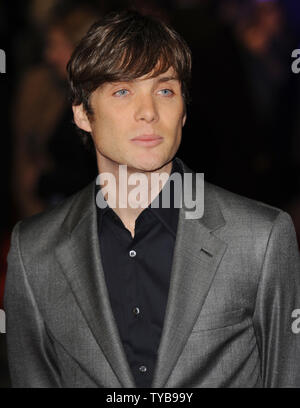
[[[8,364],[13,387],[60,387],[55,350],[28,282],[13,230],[4,293]],[[33,243],[34,244],[34,243]]]

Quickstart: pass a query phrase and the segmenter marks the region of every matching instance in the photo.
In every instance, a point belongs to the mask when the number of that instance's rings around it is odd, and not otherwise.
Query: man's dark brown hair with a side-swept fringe
[[[154,77],[173,67],[188,103],[191,65],[189,47],[167,24],[136,11],[114,12],[94,23],[72,54],[67,66],[71,102],[82,103],[92,116],[89,97],[105,82]]]

